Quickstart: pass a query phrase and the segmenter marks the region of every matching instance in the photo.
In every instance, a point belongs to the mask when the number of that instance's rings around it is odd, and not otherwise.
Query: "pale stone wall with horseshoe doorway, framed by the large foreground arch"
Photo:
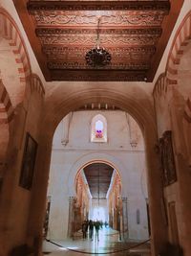
[[[147,191],[142,192],[141,183],[142,176],[146,176],[143,137],[128,113],[115,105],[107,108],[104,105],[100,109],[94,104],[94,108],[86,105],[76,109],[55,130],[47,198],[47,206],[51,207],[46,228],[47,237],[53,241],[73,238],[86,219],[106,221],[123,240],[148,238],[148,195]],[[107,140],[96,137],[92,141],[92,120],[99,120],[100,114],[104,115],[103,125],[107,124],[103,127],[107,129]],[[112,170],[112,174],[101,175],[105,169]],[[86,171],[96,172],[92,185],[91,181],[88,183],[91,174]],[[92,186],[95,192],[91,192]]]

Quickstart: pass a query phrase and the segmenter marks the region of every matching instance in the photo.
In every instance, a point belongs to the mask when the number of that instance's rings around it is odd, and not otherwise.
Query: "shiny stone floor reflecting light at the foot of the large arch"
[[[102,228],[99,231],[99,240],[83,240],[80,232],[74,240],[45,242],[43,244],[44,255],[50,256],[80,256],[80,255],[114,255],[114,256],[150,256],[149,244],[139,244],[135,241],[120,242],[116,230]],[[128,248],[130,248],[128,250]]]

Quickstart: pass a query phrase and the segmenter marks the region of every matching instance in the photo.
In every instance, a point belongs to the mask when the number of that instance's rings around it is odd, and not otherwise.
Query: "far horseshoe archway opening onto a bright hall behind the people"
[[[84,220],[98,220],[120,231],[121,179],[111,165],[99,161],[87,164],[76,175],[75,191],[79,218],[74,217],[74,231]]]

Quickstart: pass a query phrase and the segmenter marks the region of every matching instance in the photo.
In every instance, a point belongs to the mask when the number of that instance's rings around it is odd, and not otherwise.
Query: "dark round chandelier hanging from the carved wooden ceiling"
[[[111,62],[111,54],[108,53],[104,48],[100,47],[100,17],[98,18],[97,22],[97,29],[96,29],[96,47],[91,49],[86,53],[86,63],[89,66],[99,67],[99,66],[106,66]]]

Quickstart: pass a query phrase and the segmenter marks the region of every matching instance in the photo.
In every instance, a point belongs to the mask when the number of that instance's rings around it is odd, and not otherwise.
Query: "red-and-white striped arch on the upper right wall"
[[[180,23],[180,27],[174,37],[169,55],[167,58],[165,72],[162,73],[155,84],[153,96],[156,109],[159,109],[160,117],[170,120],[169,105],[176,101],[185,105],[184,118],[188,121],[190,94],[189,67],[191,65],[191,11],[188,12]],[[175,100],[176,97],[176,100]],[[168,103],[168,104],[167,104]],[[170,128],[168,122],[166,128]],[[159,131],[160,133],[160,131]]]

